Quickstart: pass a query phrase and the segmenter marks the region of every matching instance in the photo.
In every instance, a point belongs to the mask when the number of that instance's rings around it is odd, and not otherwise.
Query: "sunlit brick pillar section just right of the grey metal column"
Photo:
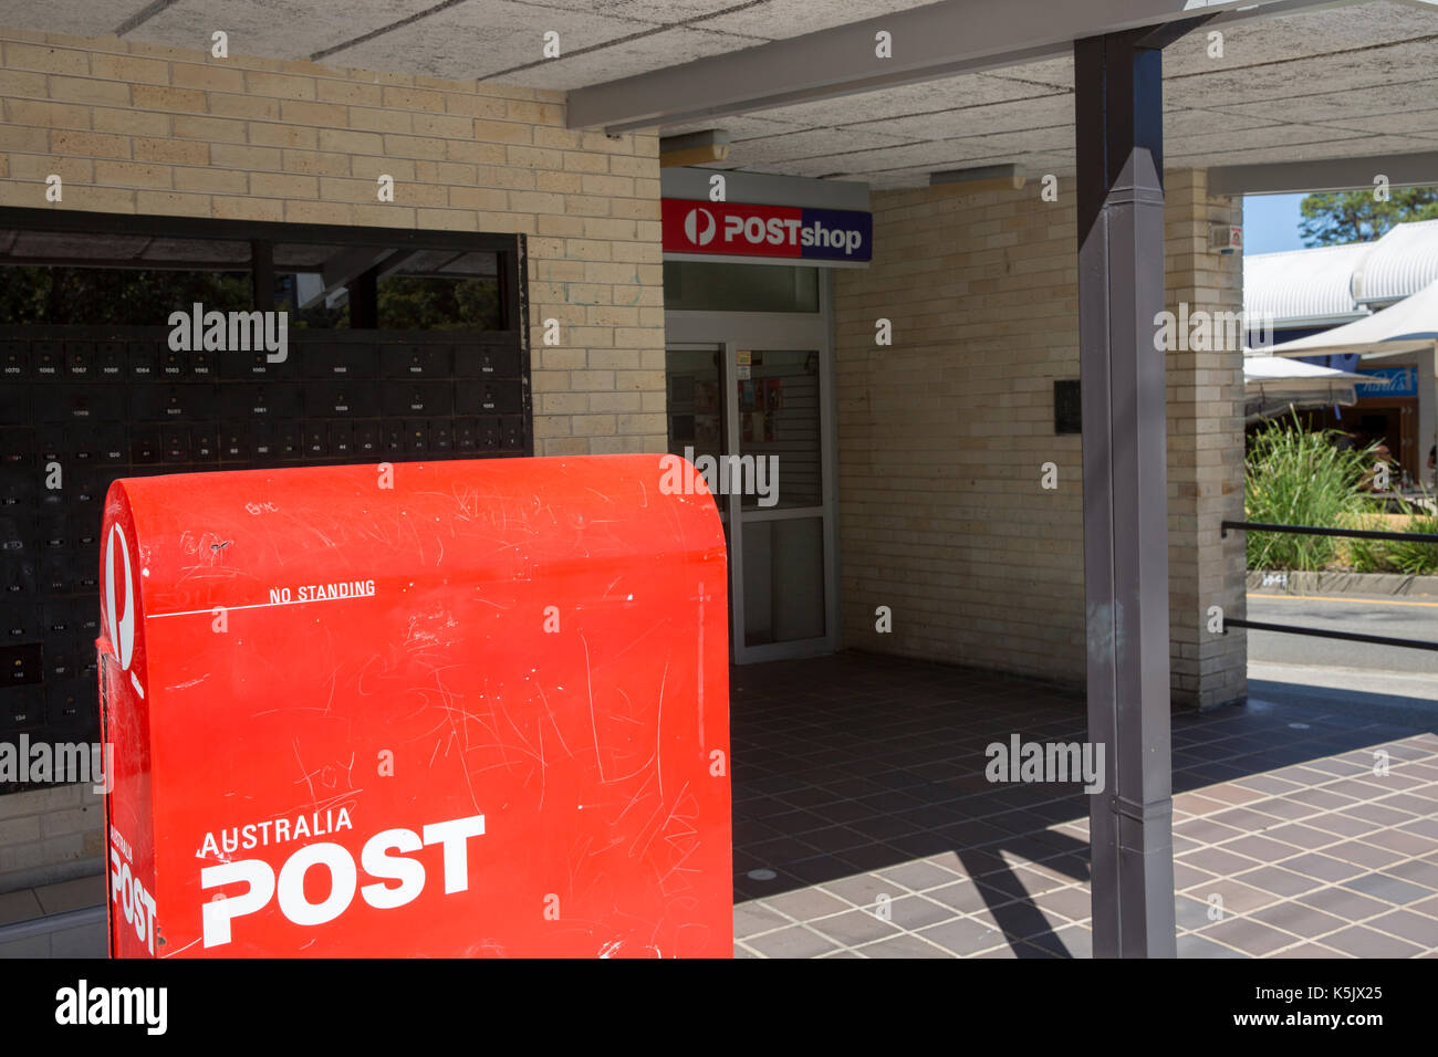
[[[1178,315],[1242,311],[1242,256],[1208,249],[1212,221],[1240,223],[1242,203],[1208,194],[1206,170],[1165,174],[1165,302]],[[1217,329],[1217,328],[1215,328]],[[1237,348],[1168,352],[1169,627],[1175,708],[1214,708],[1248,693],[1242,630],[1208,631],[1208,608],[1242,617],[1244,541],[1219,522],[1244,516],[1242,329]]]

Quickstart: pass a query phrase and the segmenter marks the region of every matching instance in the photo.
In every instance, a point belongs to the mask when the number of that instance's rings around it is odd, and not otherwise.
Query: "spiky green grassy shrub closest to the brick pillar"
[[[1248,521],[1274,525],[1342,528],[1362,513],[1368,500],[1357,490],[1373,449],[1337,446],[1337,430],[1307,431],[1294,414],[1274,418],[1254,434],[1244,472],[1244,509]],[[1337,555],[1334,536],[1287,532],[1247,534],[1251,569],[1317,571]]]

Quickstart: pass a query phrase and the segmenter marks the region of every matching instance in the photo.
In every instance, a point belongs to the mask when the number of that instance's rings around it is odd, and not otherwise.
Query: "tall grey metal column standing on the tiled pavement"
[[[1093,953],[1172,958],[1162,45],[1074,42]]]

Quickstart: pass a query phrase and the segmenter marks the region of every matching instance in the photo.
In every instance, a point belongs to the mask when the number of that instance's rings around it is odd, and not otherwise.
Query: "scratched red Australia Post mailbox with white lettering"
[[[682,467],[115,482],[111,953],[729,956],[725,541]]]

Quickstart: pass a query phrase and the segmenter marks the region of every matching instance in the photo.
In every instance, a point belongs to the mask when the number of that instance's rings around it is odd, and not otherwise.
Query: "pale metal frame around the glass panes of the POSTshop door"
[[[788,660],[834,653],[838,634],[838,470],[837,403],[834,395],[833,286],[820,270],[818,312],[664,312],[664,347],[713,349],[719,357],[719,385],[725,401],[725,454],[742,454],[739,403],[735,400],[738,349],[818,352],[820,378],[820,483],[823,502],[791,511],[741,509],[739,496],[716,496],[729,528],[729,634],[735,664]],[[667,371],[666,371],[667,391]],[[782,488],[782,476],[781,476]],[[794,521],[821,518],[824,535],[824,634],[791,643],[746,646],[743,641],[743,525],[746,521]]]

